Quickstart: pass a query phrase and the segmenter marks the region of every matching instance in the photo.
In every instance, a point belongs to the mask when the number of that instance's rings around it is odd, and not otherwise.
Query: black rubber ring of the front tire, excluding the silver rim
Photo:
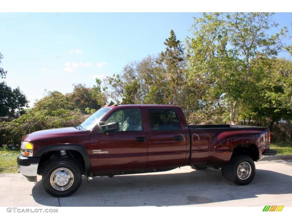
[[[73,173],[74,182],[72,186],[65,190],[59,191],[54,189],[50,183],[50,176],[58,168],[67,168]],[[74,192],[78,190],[81,185],[81,171],[79,166],[69,159],[60,159],[48,164],[42,174],[42,184],[46,192],[54,197],[66,197],[72,195]]]

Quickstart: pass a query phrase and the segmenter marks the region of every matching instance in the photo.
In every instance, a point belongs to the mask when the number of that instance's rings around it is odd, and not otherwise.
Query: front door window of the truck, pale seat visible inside
[[[139,109],[121,109],[114,112],[106,121],[119,123],[119,131],[142,131],[142,119]]]

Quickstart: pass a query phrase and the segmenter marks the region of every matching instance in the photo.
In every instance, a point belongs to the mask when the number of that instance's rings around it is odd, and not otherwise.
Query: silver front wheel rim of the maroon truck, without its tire
[[[69,189],[73,182],[73,173],[67,168],[58,168],[50,176],[51,186],[59,191]]]

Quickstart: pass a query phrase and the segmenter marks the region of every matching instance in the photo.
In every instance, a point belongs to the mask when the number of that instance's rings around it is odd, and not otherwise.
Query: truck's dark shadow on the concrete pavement
[[[221,176],[220,170],[96,177],[87,183],[82,178],[79,190],[69,197],[48,195],[36,183],[34,200],[47,206],[177,206],[208,204],[255,198],[260,194],[291,193],[292,176],[257,169],[246,186],[234,185]]]

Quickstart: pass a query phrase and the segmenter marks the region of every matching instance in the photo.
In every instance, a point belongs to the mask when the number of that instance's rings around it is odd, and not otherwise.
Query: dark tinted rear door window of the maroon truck
[[[178,116],[173,109],[148,109],[150,130],[180,130]]]

